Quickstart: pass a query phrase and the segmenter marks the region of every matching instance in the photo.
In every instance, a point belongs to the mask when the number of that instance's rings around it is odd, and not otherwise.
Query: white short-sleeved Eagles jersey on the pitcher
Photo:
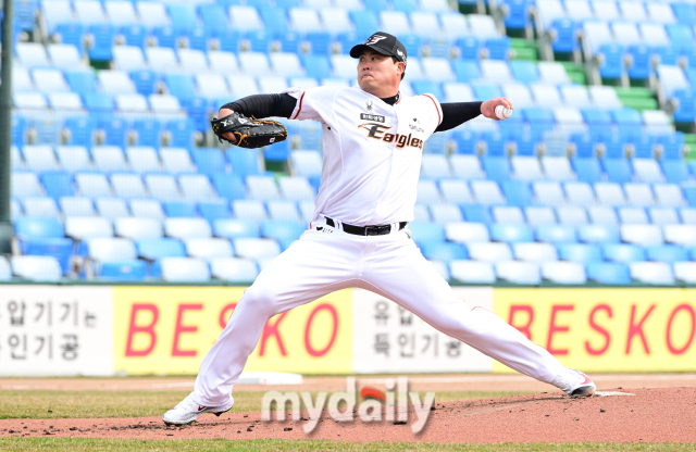
[[[413,219],[423,143],[443,121],[434,96],[400,96],[389,105],[359,87],[284,92],[297,99],[290,120],[322,124],[314,219],[324,214],[357,226]]]

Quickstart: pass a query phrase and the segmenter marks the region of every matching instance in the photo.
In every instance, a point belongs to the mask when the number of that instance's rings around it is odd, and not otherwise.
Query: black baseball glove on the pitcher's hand
[[[220,120],[213,117],[210,124],[220,142],[225,140],[240,148],[262,148],[287,138],[287,128],[277,121],[248,118],[239,113],[232,113]],[[236,142],[223,137],[228,131],[235,134]]]

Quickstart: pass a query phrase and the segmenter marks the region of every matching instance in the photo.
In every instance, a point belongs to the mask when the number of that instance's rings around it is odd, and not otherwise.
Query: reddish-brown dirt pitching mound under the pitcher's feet
[[[696,442],[696,388],[611,389],[591,399],[561,393],[435,403],[423,432],[407,424],[336,423],[324,412],[315,430],[306,420],[262,422],[260,413],[202,415],[185,427],[166,427],[157,417],[100,419],[5,419],[3,437],[135,439],[306,439],[427,442]],[[302,418],[307,418],[302,413]]]

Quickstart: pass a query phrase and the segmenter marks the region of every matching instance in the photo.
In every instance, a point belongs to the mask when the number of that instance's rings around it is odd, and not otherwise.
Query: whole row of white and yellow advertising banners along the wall
[[[196,375],[245,287],[4,285],[0,376]],[[696,371],[694,288],[453,287],[563,364]],[[271,318],[246,371],[304,375],[511,372],[372,292]]]

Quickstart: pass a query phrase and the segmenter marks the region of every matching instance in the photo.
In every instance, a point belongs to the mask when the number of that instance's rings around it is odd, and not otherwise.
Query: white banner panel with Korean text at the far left
[[[2,286],[0,376],[113,375],[111,287]]]

